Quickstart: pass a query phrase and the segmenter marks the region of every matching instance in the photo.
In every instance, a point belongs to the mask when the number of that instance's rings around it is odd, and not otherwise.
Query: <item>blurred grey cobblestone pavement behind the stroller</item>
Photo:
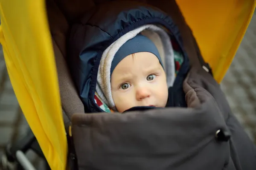
[[[221,88],[233,113],[256,144],[256,14]],[[15,142],[27,130],[28,124],[12,89],[0,47],[0,158],[6,144]],[[35,153],[29,151],[27,156],[37,169],[42,169],[44,162]]]

